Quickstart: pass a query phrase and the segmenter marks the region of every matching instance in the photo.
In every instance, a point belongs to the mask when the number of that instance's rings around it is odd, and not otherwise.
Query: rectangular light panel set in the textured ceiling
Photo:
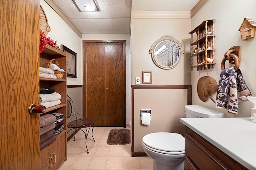
[[[81,12],[99,11],[95,0],[73,0],[73,2]]]

